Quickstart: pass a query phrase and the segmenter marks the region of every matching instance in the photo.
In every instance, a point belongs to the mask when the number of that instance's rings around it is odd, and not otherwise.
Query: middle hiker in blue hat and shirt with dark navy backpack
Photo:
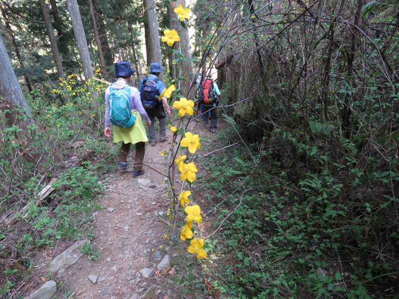
[[[166,97],[162,97],[161,101],[159,100],[159,95],[162,94],[162,92],[165,89],[165,84],[161,80],[158,79],[158,76],[160,73],[162,73],[162,67],[159,63],[153,62],[150,64],[150,69],[149,69],[149,75],[148,77],[145,77],[141,80],[140,86],[139,86],[139,92],[141,94],[141,99],[144,103],[144,98],[150,103],[152,96],[150,96],[150,92],[147,92],[148,90],[151,90],[151,85],[154,85],[155,82],[155,88],[156,88],[156,98],[154,98],[154,104],[153,105],[145,105],[144,108],[147,111],[148,116],[150,117],[151,120],[151,125],[148,127],[148,133],[150,135],[150,143],[151,146],[155,147],[157,144],[157,134],[155,133],[155,118],[158,119],[159,122],[159,141],[160,142],[165,142],[168,140],[168,137],[166,135],[166,114],[165,110],[167,110],[168,114],[171,114],[171,109],[168,105],[168,100]]]

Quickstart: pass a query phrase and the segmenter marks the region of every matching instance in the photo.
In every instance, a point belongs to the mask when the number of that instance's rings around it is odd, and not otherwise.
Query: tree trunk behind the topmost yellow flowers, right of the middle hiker
[[[180,35],[180,51],[183,53],[185,58],[191,58],[191,49],[190,49],[190,37],[189,31],[177,21],[173,20],[173,18],[177,17],[176,12],[173,11],[174,8],[178,7],[179,4],[182,4],[183,7],[186,7],[186,0],[178,0],[171,2],[169,5],[169,28],[179,28],[178,32]],[[181,66],[181,73],[178,73],[178,76],[183,76],[187,79],[187,81],[180,81],[180,87],[182,88],[181,94],[186,95],[187,98],[190,97],[189,90],[193,81],[193,63],[191,61],[183,61]],[[197,78],[197,77],[196,77]],[[191,96],[194,95],[195,90],[190,90]]]

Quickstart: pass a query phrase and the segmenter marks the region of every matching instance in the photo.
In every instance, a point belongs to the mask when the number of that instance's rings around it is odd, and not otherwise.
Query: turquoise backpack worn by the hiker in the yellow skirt
[[[108,97],[110,123],[117,127],[129,128],[136,117],[130,109],[130,86],[122,89],[110,88]]]

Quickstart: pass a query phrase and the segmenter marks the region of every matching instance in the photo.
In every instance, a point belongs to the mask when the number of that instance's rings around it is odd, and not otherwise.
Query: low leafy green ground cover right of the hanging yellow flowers
[[[219,135],[220,144],[238,139],[234,130],[227,131]],[[205,293],[397,298],[397,200],[379,192],[396,174],[375,171],[367,183],[380,188],[367,187],[366,176],[344,159],[331,165],[319,161],[321,167],[304,169],[294,181],[284,171],[276,140],[248,147],[239,142],[202,162],[211,173],[200,188],[217,219],[214,229],[223,223],[207,238],[208,261],[198,267],[210,285],[202,285]],[[322,154],[317,149],[313,156]]]

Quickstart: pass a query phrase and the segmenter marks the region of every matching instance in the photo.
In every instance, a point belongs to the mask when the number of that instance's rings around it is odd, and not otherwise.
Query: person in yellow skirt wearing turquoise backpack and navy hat
[[[113,125],[113,142],[122,142],[121,150],[119,151],[119,169],[127,167],[127,157],[132,144],[136,146],[136,155],[132,175],[134,177],[144,174],[143,159],[145,154],[145,143],[148,142],[147,132],[143,125],[142,119],[147,126],[151,125],[151,120],[143,108],[140,99],[140,93],[137,88],[129,86],[130,78],[134,74],[128,61],[121,61],[115,63],[115,77],[116,81],[108,86],[105,90],[105,130],[104,135],[110,137],[112,129],[111,124],[114,123],[114,117],[117,118],[118,111],[116,106],[125,104],[125,109],[128,111],[128,117],[131,117],[133,124],[127,124],[129,127]],[[125,98],[124,98],[125,97]],[[123,102],[125,101],[125,102]],[[111,102],[111,104],[110,104]],[[130,107],[127,107],[130,105]],[[123,108],[123,106],[122,106]],[[120,111],[121,109],[119,109]],[[129,111],[131,113],[129,113]],[[133,117],[132,117],[133,115]]]

